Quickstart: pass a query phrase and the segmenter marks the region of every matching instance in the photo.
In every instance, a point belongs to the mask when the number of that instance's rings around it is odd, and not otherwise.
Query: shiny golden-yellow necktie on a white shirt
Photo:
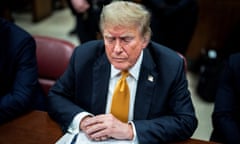
[[[122,72],[122,77],[117,82],[113,93],[111,113],[123,122],[128,121],[130,92],[126,78],[129,73]]]

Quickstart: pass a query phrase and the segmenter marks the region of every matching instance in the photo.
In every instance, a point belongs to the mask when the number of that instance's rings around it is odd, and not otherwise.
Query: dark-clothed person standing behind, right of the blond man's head
[[[183,55],[188,50],[197,20],[197,0],[141,0],[152,12],[152,40]]]

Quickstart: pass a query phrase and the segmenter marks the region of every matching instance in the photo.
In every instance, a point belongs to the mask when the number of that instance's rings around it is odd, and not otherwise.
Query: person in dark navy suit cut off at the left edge
[[[35,94],[40,92],[40,89],[37,85],[34,39],[18,26],[0,18],[0,41],[0,124],[2,124],[32,108],[37,108],[35,102],[41,98],[41,93],[36,97]]]

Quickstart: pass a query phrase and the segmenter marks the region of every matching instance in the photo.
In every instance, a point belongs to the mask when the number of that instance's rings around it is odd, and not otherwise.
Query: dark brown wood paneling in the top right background
[[[195,60],[202,48],[220,49],[240,20],[239,0],[198,0],[199,19],[189,45],[187,58]]]

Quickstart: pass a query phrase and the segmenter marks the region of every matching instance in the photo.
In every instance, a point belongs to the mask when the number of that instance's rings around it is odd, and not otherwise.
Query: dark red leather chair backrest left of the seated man
[[[48,36],[34,36],[39,83],[48,95],[49,89],[64,73],[75,46],[66,40]]]

